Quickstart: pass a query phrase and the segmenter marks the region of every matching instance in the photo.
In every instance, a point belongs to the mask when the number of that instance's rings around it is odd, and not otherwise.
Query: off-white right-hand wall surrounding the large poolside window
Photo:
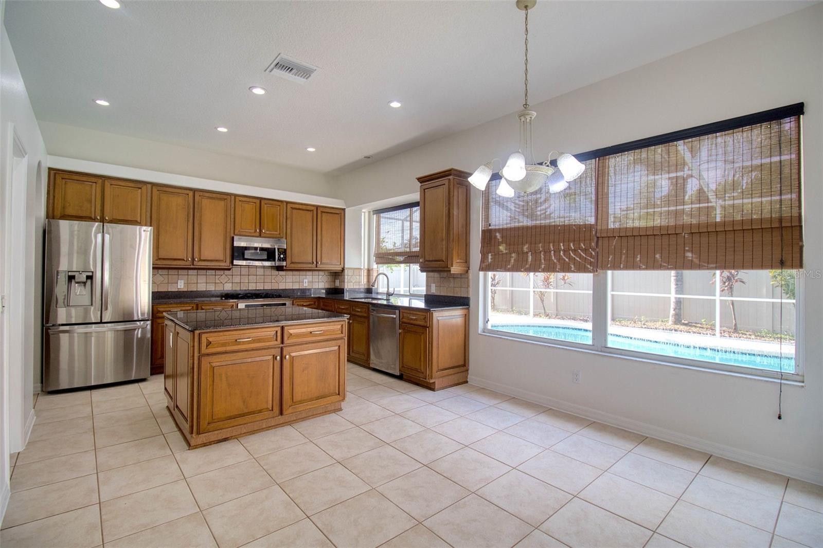
[[[804,199],[811,211],[805,267],[821,272],[821,4],[533,105],[534,142],[546,153],[588,151],[798,101],[806,103]],[[513,113],[344,174],[342,197],[354,207],[417,192],[416,176],[452,166],[474,170],[504,158],[517,137]],[[473,190],[472,265],[479,264],[479,212],[480,193]],[[806,383],[783,386],[783,420],[776,419],[774,382],[481,335],[479,279],[474,267],[472,382],[823,483],[820,277],[802,281]],[[571,383],[572,369],[582,372],[582,383]]]

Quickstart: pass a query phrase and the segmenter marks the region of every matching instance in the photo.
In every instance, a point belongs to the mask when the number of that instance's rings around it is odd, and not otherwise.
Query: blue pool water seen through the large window
[[[497,331],[518,333],[520,335],[530,335],[532,337],[544,337],[557,339],[560,341],[579,342],[592,344],[592,332],[580,327],[535,325],[535,324],[501,324],[491,326]],[[671,355],[677,358],[689,360],[712,361],[718,364],[742,365],[743,367],[753,367],[756,369],[769,369],[770,371],[780,370],[779,355],[756,354],[746,351],[732,351],[726,348],[711,348],[707,346],[693,346],[687,344],[676,344],[672,342],[650,341],[638,337],[626,337],[625,335],[609,335],[608,346],[621,348],[624,350],[649,352],[650,354]],[[783,372],[794,372],[794,356],[783,356]]]

